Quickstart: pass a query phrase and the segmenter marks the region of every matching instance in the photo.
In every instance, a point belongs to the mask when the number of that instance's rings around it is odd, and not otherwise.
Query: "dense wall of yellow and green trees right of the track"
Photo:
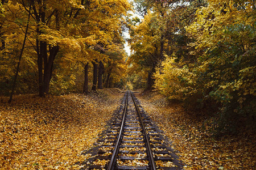
[[[143,19],[129,21],[134,86],[144,77],[144,87],[168,99],[210,107],[218,132],[254,126],[255,2],[137,0],[135,7]]]

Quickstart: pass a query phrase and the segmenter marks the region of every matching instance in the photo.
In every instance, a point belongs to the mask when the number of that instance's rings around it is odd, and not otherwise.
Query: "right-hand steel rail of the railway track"
[[[133,96],[134,94],[131,91],[130,91],[130,93],[131,93],[131,98],[133,99],[133,103],[135,105],[135,108],[136,108],[136,111],[137,111],[137,114],[138,114],[138,117],[139,117],[139,120],[140,120],[140,123],[141,123],[141,126],[142,126],[142,131],[144,133],[144,137],[145,137],[145,140],[146,140],[148,159],[150,161],[151,169],[156,170],[156,165],[155,165],[155,160],[154,160],[152,148],[150,146],[150,141],[149,141],[148,136],[147,136],[146,128],[143,124],[143,120],[142,120],[142,117],[141,117],[141,111],[139,111],[138,105],[135,103],[135,99],[134,99],[134,96]]]

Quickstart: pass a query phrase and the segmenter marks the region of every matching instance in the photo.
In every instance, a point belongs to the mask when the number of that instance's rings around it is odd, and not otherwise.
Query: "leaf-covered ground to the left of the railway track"
[[[78,169],[123,96],[15,96],[0,102],[0,169]]]

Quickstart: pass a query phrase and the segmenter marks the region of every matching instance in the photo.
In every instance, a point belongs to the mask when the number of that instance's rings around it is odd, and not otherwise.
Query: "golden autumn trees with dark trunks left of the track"
[[[127,1],[12,0],[2,1],[0,10],[1,94],[15,83],[16,93],[44,96],[82,87],[88,93],[90,66],[93,90],[123,86]]]

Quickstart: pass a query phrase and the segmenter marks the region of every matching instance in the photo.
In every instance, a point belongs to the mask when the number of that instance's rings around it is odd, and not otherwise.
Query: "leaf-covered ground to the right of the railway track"
[[[243,132],[213,138],[203,116],[170,104],[157,92],[137,94],[142,107],[164,131],[185,169],[254,169],[255,134]],[[201,113],[200,113],[201,114]],[[205,127],[204,127],[205,125]]]

